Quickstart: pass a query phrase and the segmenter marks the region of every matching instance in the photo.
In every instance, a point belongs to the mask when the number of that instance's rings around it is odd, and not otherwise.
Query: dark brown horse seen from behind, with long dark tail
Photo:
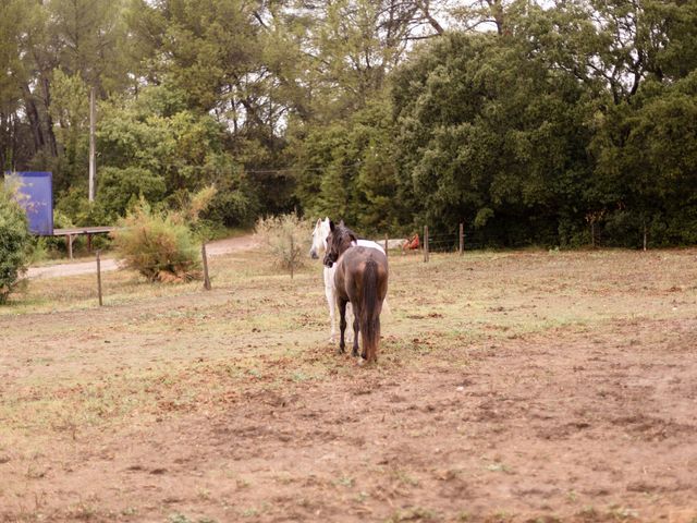
[[[358,355],[358,332],[363,352],[360,356],[368,362],[377,360],[380,341],[380,312],[388,293],[388,258],[377,248],[356,246],[356,235],[344,226],[329,223],[325,265],[337,264],[334,287],[339,305],[341,338],[339,352],[343,353],[346,343],[346,304],[353,306],[353,351]]]

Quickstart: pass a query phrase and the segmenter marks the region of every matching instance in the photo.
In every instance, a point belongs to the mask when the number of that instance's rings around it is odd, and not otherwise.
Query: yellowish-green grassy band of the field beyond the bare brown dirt
[[[429,264],[392,256],[380,364],[371,372],[418,367],[455,346],[450,365],[466,366],[499,340],[554,330],[592,336],[610,321],[688,317],[697,287],[685,270],[694,256],[477,252],[435,255]],[[319,265],[294,280],[256,252],[210,266],[211,292],[198,282],[152,284],[134,272],[107,272],[102,308],[94,276],[33,281],[0,308],[0,362],[11,369],[0,434],[74,435],[135,414],[219,404],[259,381],[280,388],[352,372],[323,344]],[[652,270],[653,279],[641,276]]]

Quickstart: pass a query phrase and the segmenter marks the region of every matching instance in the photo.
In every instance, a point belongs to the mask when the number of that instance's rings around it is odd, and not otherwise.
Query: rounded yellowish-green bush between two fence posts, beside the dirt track
[[[182,212],[154,211],[142,200],[120,220],[112,238],[122,264],[149,281],[201,278],[198,242]]]

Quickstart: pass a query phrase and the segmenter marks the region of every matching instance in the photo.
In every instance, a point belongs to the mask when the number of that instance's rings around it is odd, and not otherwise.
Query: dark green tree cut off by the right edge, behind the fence
[[[647,82],[634,104],[596,123],[595,183],[626,246],[697,241],[697,73],[673,85]],[[617,234],[619,236],[620,234]]]

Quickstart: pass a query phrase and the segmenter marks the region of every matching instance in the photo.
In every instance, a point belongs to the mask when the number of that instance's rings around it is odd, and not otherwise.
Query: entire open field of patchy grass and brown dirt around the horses
[[[390,257],[377,365],[319,263],[0,308],[0,521],[697,522],[697,250]]]

